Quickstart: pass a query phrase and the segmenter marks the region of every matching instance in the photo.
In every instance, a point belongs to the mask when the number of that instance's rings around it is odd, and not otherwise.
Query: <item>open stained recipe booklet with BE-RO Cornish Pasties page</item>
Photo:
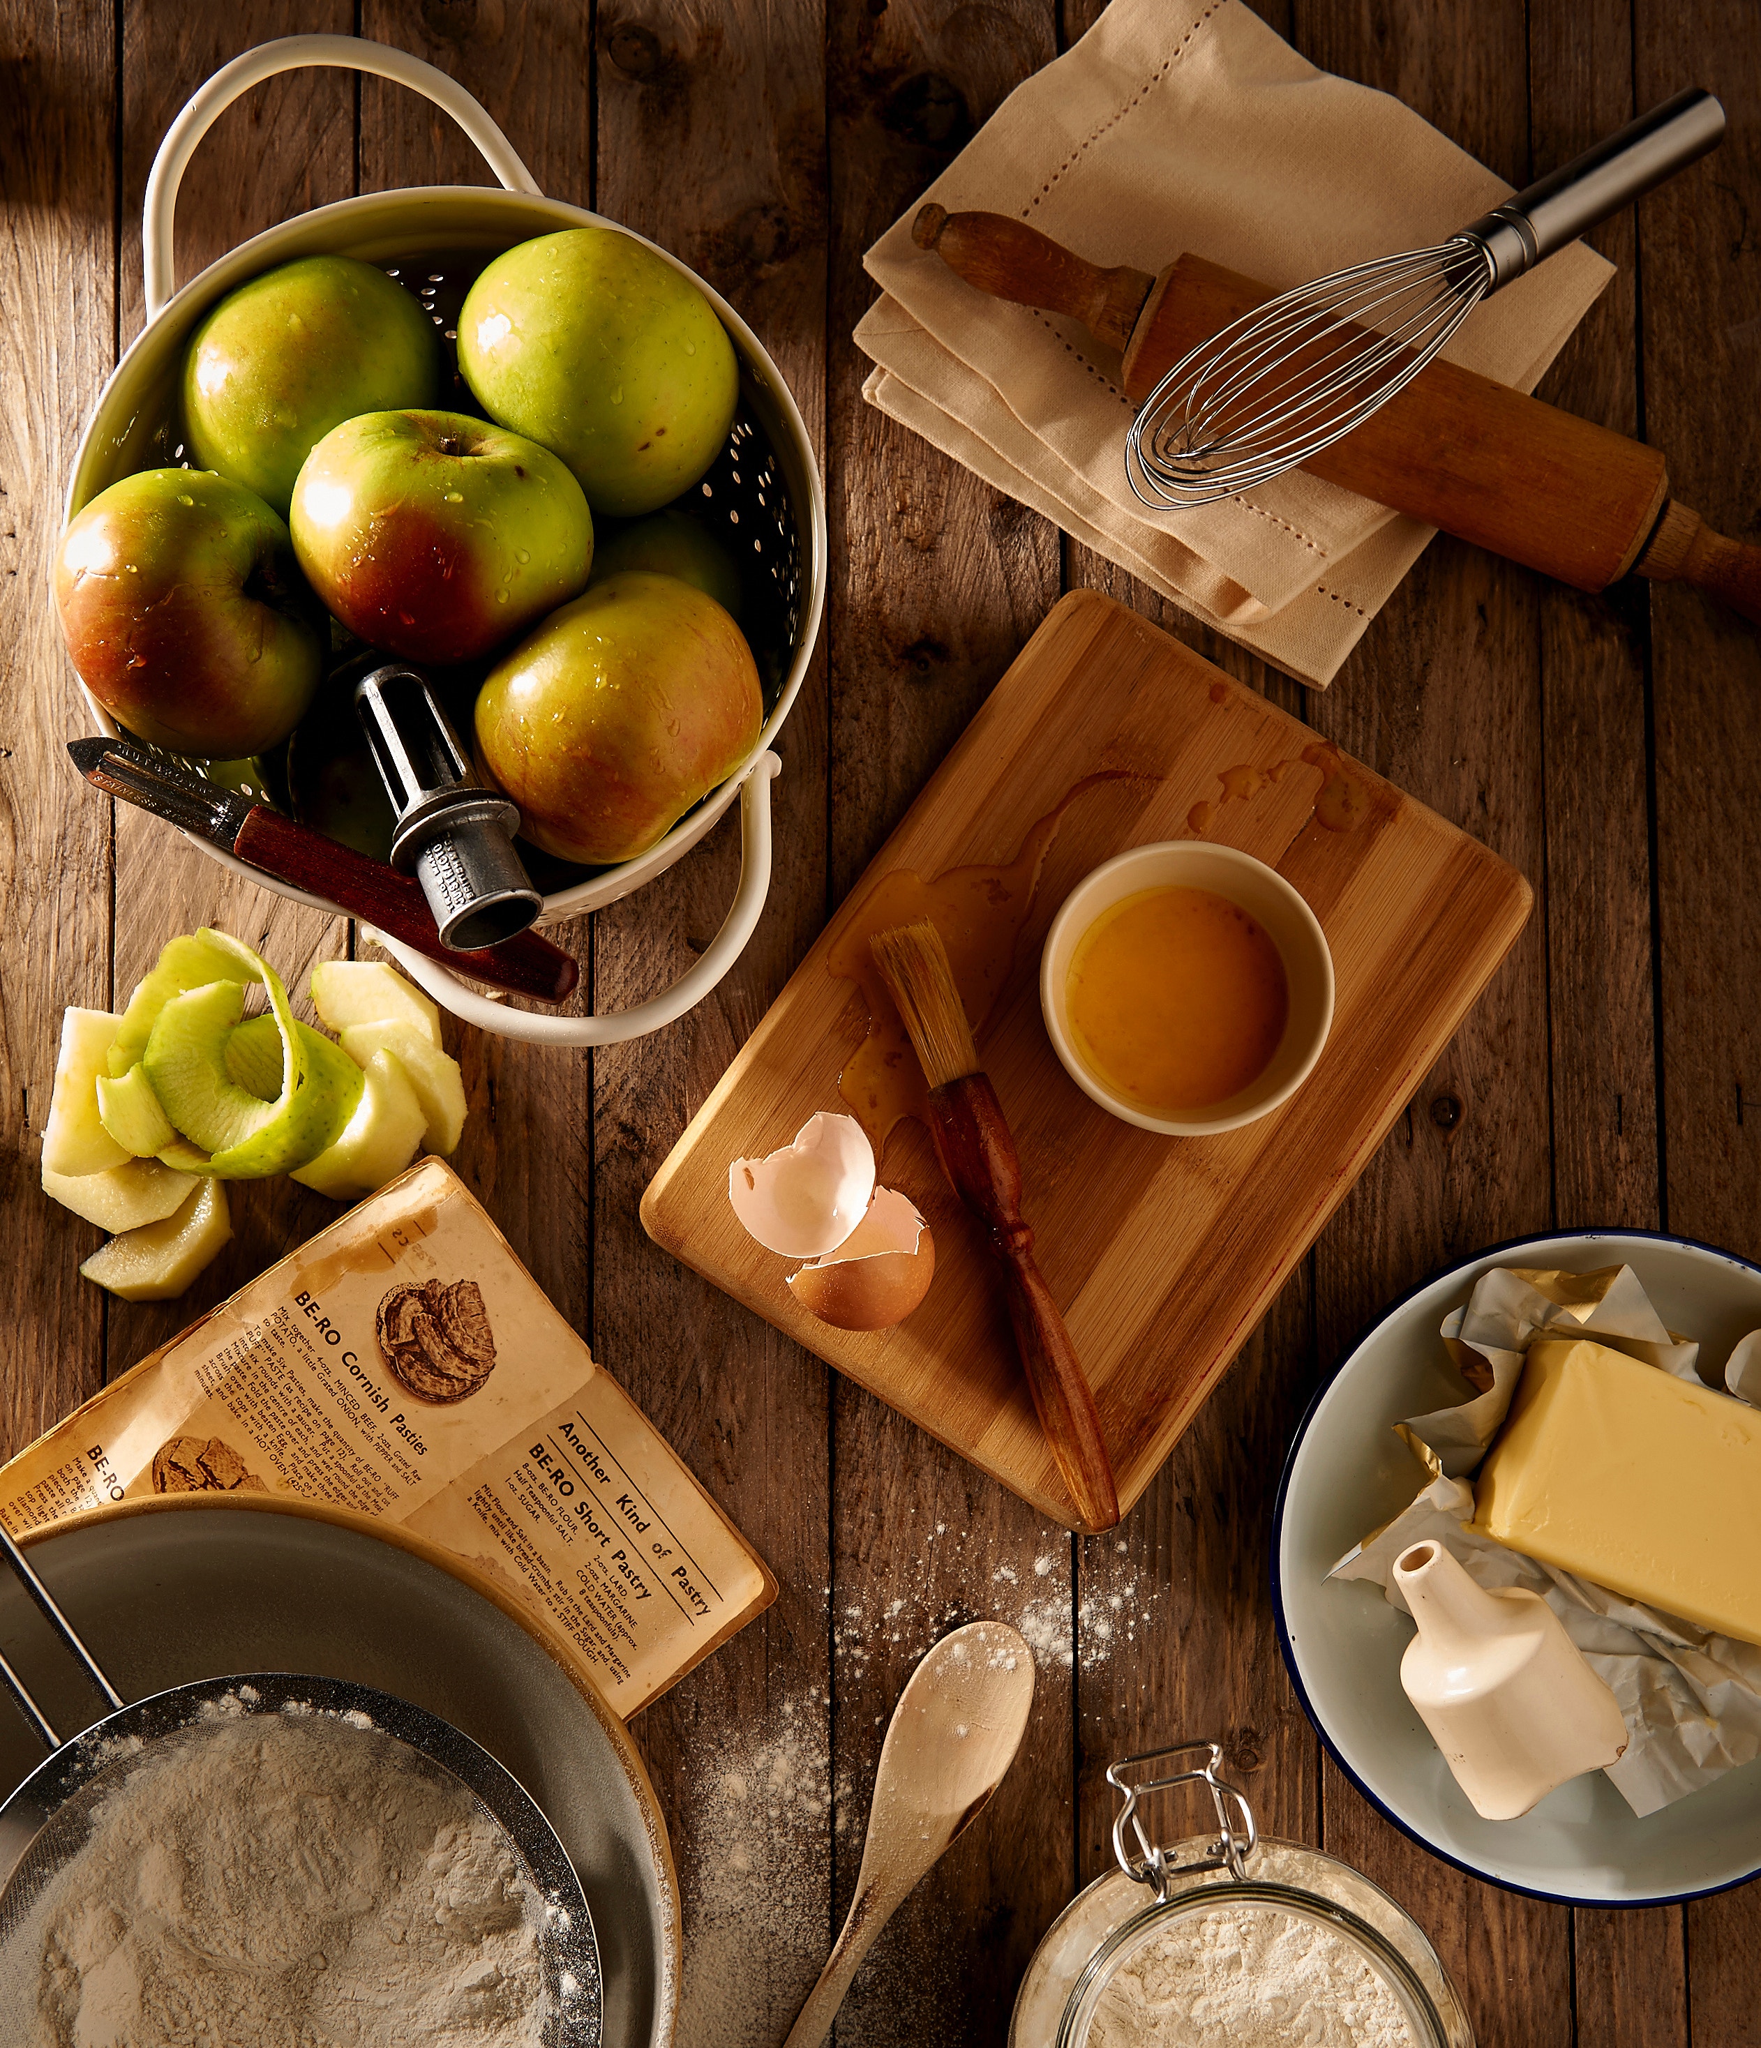
[[[14,1536],[156,1493],[293,1495],[428,1538],[625,1716],[776,1597],[440,1159],[0,1466]]]

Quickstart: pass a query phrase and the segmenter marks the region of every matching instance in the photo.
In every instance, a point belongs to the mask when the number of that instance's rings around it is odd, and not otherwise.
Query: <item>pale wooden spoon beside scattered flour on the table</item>
[[[948,1843],[989,1806],[1034,1704],[1034,1653],[1007,1622],[969,1622],[899,1694],[850,1917],[782,2048],[819,2048],[874,1935]]]

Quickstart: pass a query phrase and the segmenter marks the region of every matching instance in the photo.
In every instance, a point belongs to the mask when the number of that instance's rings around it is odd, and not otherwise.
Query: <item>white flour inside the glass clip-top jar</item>
[[[1331,1927],[1233,1907],[1151,1935],[1100,1995],[1087,2048],[1417,2048],[1388,1982]]]

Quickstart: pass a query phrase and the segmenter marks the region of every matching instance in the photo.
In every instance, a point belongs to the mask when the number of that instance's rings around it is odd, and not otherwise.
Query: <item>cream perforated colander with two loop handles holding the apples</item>
[[[473,184],[418,186],[315,207],[252,236],[178,291],[172,223],[178,184],[197,145],[240,94],[278,72],[307,66],[371,72],[424,94],[465,129],[502,180],[502,190]],[[477,100],[432,63],[352,35],[291,35],[246,51],[188,100],[154,158],[141,231],[147,326],[98,397],[74,457],[66,516],[72,518],[98,492],[137,469],[178,461],[174,420],[184,342],[209,307],[248,279],[297,256],[317,254],[354,256],[397,270],[414,262],[420,264],[422,279],[418,295],[434,313],[436,326],[444,328],[446,305],[463,299],[465,287],[489,258],[563,227],[631,233],[586,207],[547,199]],[[645,854],[594,870],[563,868],[545,856],[528,856],[528,864],[536,868],[534,885],[543,891],[536,922],[555,924],[616,903],[665,872],[739,799],[741,870],[733,905],[702,956],[653,999],[616,1016],[539,1016],[493,1001],[448,967],[401,940],[375,934],[412,981],[442,1008],[487,1032],[539,1044],[612,1044],[659,1030],[702,1001],[745,950],[770,891],[770,782],[782,772],[774,741],[801,694],[825,608],[825,496],[807,426],[782,373],[751,328],[711,285],[643,236],[633,240],[696,285],[715,307],[739,358],[733,430],[690,498],[698,518],[706,518],[729,553],[745,565],[741,588],[747,612],[741,629],[764,684],[764,725],[758,743],[733,774]],[[450,338],[446,346],[450,348]],[[115,721],[90,692],[84,696],[96,729],[106,739],[117,739]],[[352,719],[346,707],[342,715]],[[192,844],[260,889],[334,918],[348,915],[342,905],[281,883],[209,840],[195,838]]]

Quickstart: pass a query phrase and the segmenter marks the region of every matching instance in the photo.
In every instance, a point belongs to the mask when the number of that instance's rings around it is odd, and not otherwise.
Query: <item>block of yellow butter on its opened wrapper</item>
[[[1761,1642],[1761,1409],[1589,1339],[1532,1343],[1472,1528]]]

